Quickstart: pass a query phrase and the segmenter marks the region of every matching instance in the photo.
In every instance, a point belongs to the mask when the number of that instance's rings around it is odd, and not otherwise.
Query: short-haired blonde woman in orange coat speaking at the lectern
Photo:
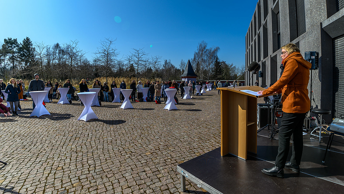
[[[282,94],[283,117],[278,133],[278,154],[275,166],[262,169],[262,172],[283,178],[284,168],[300,172],[299,165],[303,149],[302,126],[311,103],[307,89],[311,63],[303,59],[300,49],[295,44],[289,43],[281,49],[281,67],[283,67],[280,79],[268,89],[259,91],[258,94],[269,95],[275,92]],[[293,154],[290,162],[286,163],[291,135],[293,135]]]

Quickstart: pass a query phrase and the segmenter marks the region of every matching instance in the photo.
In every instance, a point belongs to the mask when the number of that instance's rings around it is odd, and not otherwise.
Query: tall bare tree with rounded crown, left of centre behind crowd
[[[117,49],[114,47],[115,41],[117,39],[105,38],[105,40],[100,40],[100,47],[97,47],[97,52],[95,59],[99,64],[99,71],[105,74],[106,82],[108,82],[108,76],[115,68],[116,58],[119,54]]]

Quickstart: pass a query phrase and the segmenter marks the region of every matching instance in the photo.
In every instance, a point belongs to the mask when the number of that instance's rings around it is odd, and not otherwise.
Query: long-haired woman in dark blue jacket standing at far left
[[[14,78],[10,80],[10,84],[7,85],[5,89],[5,93],[8,93],[7,95],[7,102],[10,102],[11,110],[13,111],[13,115],[18,115],[18,94],[20,94],[21,90],[17,85],[17,82],[15,81]],[[14,104],[14,109],[13,109],[13,104]]]

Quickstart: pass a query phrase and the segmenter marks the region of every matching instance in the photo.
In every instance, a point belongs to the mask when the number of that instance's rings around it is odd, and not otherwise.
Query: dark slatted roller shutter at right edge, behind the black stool
[[[333,39],[333,117],[344,115],[344,36]]]

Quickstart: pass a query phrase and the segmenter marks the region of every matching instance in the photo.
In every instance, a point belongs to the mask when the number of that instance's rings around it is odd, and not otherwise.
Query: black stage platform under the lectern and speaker
[[[270,140],[267,131],[257,137],[257,154],[249,153],[242,160],[233,155],[221,157],[221,148],[207,152],[179,164],[181,189],[185,191],[185,177],[212,194],[226,193],[344,193],[344,140],[337,136],[331,151],[327,152],[325,163],[322,159],[327,138],[310,139],[304,135],[304,146],[300,173],[284,169],[284,178],[268,176],[261,169],[272,167],[278,150],[278,135]],[[318,143],[316,143],[318,142]],[[323,143],[325,142],[325,143]],[[289,150],[290,160],[291,144]]]

